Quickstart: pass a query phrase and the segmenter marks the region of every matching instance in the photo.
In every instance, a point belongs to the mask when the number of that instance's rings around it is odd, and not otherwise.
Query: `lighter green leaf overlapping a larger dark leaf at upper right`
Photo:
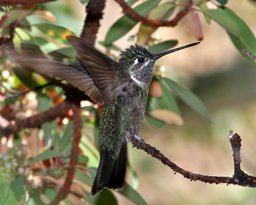
[[[236,22],[228,13],[227,8],[218,7],[216,10],[208,9],[204,11],[216,23],[224,27],[227,32],[236,38],[239,38],[241,30]]]

